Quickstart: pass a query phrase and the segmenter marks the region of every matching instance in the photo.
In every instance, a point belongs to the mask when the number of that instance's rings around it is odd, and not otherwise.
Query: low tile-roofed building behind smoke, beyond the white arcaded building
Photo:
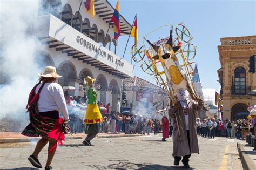
[[[143,115],[156,112],[169,105],[169,97],[164,89],[139,77],[122,80],[126,99],[123,100],[123,110]]]

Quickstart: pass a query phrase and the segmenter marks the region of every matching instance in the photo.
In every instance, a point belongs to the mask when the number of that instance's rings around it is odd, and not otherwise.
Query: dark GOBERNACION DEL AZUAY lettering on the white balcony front
[[[97,53],[100,57],[106,58],[113,64],[119,65],[121,67],[124,67],[124,63],[121,61],[121,59],[114,59],[110,53],[107,51],[97,47],[95,44],[90,43],[89,41],[86,41],[83,37],[77,36],[77,43],[85,47],[87,50]]]

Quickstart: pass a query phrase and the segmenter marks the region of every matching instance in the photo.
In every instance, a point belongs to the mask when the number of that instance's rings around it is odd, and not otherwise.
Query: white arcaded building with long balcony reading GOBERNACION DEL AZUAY
[[[80,1],[40,2],[32,34],[45,45],[45,50],[36,53],[36,58],[43,61],[42,67],[55,66],[63,76],[58,83],[76,87],[76,91],[68,91],[71,96],[84,97],[79,90],[81,80],[86,76],[96,78],[98,101],[110,103],[111,110],[116,110],[121,80],[133,77],[134,66],[116,55],[118,42],[112,23],[107,33],[113,6],[106,0],[95,0],[92,18],[84,3],[78,12]],[[130,33],[131,24],[123,16],[120,25],[121,36]]]

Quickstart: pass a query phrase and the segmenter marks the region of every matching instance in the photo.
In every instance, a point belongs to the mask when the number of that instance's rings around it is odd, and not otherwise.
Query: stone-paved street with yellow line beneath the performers
[[[65,146],[57,148],[52,166],[53,169],[184,169],[173,166],[172,139],[162,142],[160,135],[95,139],[95,146],[83,146],[82,140],[75,140],[92,157],[85,155],[72,140],[68,140]],[[242,169],[236,149],[237,140],[198,140],[200,154],[191,156],[191,169]],[[35,144],[1,144],[0,168],[31,169],[27,158]],[[45,148],[39,155],[42,165],[45,164],[46,154]]]

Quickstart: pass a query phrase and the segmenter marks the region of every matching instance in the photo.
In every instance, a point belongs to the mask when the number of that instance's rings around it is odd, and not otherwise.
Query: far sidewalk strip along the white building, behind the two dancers
[[[77,133],[77,134],[66,134],[65,139],[85,139],[87,134]],[[96,138],[119,138],[119,137],[135,137],[141,134],[111,134],[111,133],[98,133]],[[19,132],[0,132],[0,144],[1,143],[16,143],[16,142],[30,142],[37,141],[41,137],[25,137]]]

